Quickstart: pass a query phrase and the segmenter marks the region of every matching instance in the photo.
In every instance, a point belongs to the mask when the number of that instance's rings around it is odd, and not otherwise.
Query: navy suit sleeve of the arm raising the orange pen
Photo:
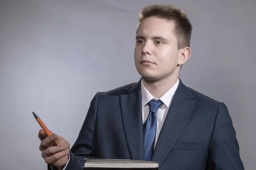
[[[79,132],[79,136],[70,149],[70,158],[65,170],[82,170],[84,158],[95,158],[96,141],[96,113],[100,92],[92,99],[86,118]]]

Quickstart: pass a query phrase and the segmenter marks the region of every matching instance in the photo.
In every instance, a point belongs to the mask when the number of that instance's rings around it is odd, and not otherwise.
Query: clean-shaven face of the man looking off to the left
[[[177,72],[180,51],[173,34],[175,24],[158,17],[148,17],[137,30],[135,66],[147,80],[159,81]]]

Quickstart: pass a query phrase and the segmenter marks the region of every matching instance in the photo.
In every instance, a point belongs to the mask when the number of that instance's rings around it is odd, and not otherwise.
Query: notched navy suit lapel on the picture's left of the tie
[[[140,81],[120,96],[122,121],[131,159],[144,160]]]

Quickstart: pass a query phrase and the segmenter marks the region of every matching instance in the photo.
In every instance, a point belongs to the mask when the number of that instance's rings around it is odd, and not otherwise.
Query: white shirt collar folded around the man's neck
[[[172,101],[175,91],[177,90],[178,85],[179,79],[177,79],[175,85],[172,86],[172,88],[170,88],[168,91],[166,91],[166,93],[163,94],[163,96],[161,96],[160,98],[154,98],[154,96],[152,96],[145,88],[145,86],[143,85],[143,80],[141,79],[142,107],[144,107],[152,99],[160,99],[166,105],[166,107],[169,108],[169,105]]]

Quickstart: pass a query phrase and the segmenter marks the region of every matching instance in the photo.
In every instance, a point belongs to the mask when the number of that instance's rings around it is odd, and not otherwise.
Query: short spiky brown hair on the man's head
[[[184,11],[169,4],[153,4],[145,6],[140,10],[137,27],[140,26],[140,23],[145,18],[151,16],[160,17],[175,23],[174,34],[177,38],[178,49],[190,46],[192,25]]]

